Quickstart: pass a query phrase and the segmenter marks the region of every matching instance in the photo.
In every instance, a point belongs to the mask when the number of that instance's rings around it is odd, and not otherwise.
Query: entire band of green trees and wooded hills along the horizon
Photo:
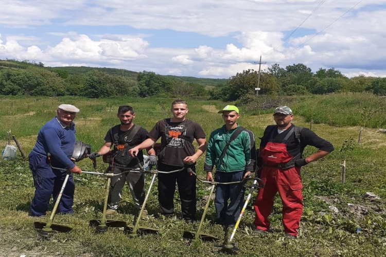
[[[202,83],[200,83],[202,82]],[[255,94],[258,72],[243,70],[228,80],[162,76],[152,71],[91,67],[44,67],[42,63],[0,61],[0,95],[114,96],[150,97],[155,95],[210,97],[234,101]],[[306,95],[334,92],[370,91],[386,95],[386,78],[358,76],[347,78],[335,68],[313,73],[304,64],[285,68],[274,64],[260,73],[259,94]]]

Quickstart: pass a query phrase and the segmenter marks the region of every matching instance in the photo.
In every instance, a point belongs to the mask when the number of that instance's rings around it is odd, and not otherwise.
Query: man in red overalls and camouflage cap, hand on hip
[[[293,114],[288,106],[277,107],[273,118],[276,125],[266,128],[260,142],[259,176],[265,187],[259,190],[254,203],[255,232],[269,230],[268,216],[272,211],[274,196],[279,192],[283,203],[284,231],[287,237],[295,238],[303,211],[300,169],[326,156],[334,147],[307,128],[293,125]],[[303,158],[302,153],[307,145],[315,146],[318,151]]]

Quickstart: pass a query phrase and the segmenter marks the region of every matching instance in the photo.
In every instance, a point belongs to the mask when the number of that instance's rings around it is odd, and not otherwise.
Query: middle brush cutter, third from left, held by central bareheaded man
[[[153,187],[153,184],[154,184],[154,180],[155,180],[155,177],[158,173],[174,173],[174,172],[178,172],[178,171],[182,171],[184,168],[180,169],[180,170],[175,170],[175,171],[169,171],[169,172],[165,172],[165,171],[159,171],[159,170],[152,170],[152,171],[146,171],[143,169],[141,163],[138,161],[138,164],[139,164],[139,168],[141,169],[141,171],[132,171],[132,172],[145,172],[145,173],[152,173],[153,176],[151,178],[151,181],[150,181],[150,185],[149,185],[149,189],[147,190],[147,193],[146,193],[146,196],[145,196],[145,199],[144,199],[144,203],[142,204],[142,207],[141,207],[141,210],[139,210],[139,213],[136,217],[136,221],[135,221],[135,224],[134,226],[132,225],[127,225],[124,229],[124,232],[128,234],[129,237],[136,237],[138,236],[137,233],[140,233],[140,234],[156,234],[158,233],[158,229],[154,229],[154,228],[150,228],[150,227],[143,227],[143,226],[139,226],[139,221],[141,221],[141,216],[142,216],[142,213],[146,207],[146,202],[149,198],[149,195],[150,195],[150,192],[151,192],[151,188]]]

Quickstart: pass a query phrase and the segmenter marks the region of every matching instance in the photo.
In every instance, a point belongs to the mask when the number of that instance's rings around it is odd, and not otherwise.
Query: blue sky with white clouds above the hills
[[[386,77],[386,1],[0,0],[0,59],[230,78],[303,63]]]

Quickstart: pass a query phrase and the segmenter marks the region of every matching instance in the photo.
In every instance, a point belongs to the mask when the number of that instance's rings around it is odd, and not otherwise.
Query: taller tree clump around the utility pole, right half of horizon
[[[234,101],[255,95],[259,87],[262,95],[306,95],[329,94],[335,92],[370,91],[375,95],[386,96],[386,78],[365,77],[363,75],[347,78],[335,68],[320,68],[313,73],[309,67],[299,63],[285,68],[273,64],[268,70],[258,72],[243,70],[232,76],[226,85],[210,91],[212,99]]]

